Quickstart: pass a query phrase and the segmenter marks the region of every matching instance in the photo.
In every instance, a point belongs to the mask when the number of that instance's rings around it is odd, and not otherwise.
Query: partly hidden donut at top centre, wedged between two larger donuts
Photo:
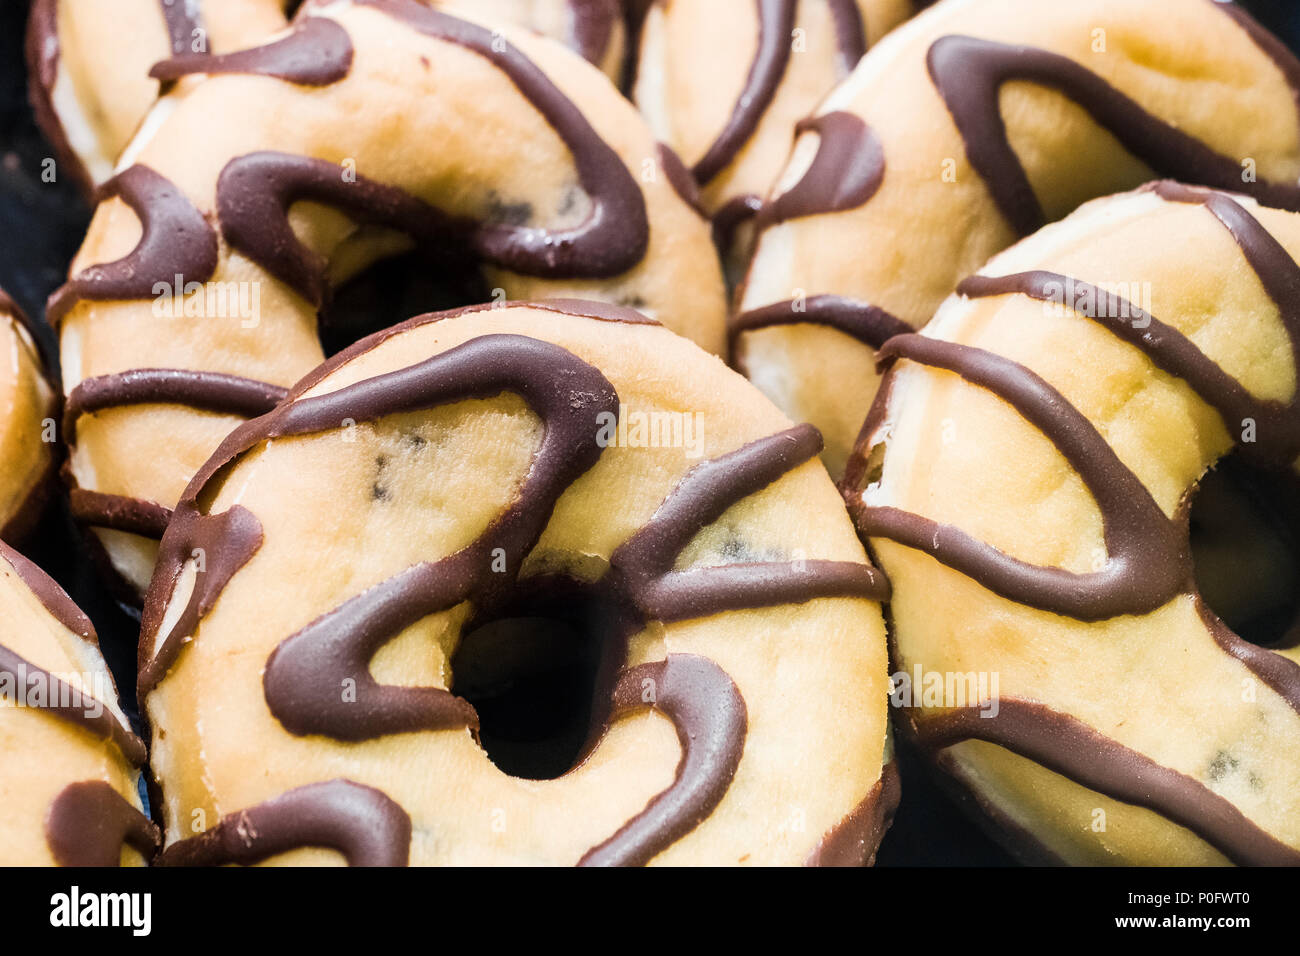
[[[640,39],[633,94],[660,140],[689,164],[719,247],[762,204],[793,130],[914,0],[659,0]],[[719,36],[729,38],[719,43]],[[741,38],[736,42],[734,38]]]

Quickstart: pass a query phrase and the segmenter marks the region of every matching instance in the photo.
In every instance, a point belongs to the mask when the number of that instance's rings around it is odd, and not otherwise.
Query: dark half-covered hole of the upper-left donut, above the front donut
[[[426,312],[491,299],[491,290],[469,261],[412,251],[381,259],[339,285],[317,324],[326,358],[376,332]]]

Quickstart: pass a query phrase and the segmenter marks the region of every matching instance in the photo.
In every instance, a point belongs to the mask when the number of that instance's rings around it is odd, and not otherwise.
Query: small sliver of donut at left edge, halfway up
[[[0,540],[18,541],[40,516],[55,466],[57,395],[22,310],[0,289]]]

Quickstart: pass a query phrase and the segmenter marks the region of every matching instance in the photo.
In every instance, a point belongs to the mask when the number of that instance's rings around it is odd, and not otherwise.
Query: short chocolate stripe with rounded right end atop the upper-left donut
[[[306,17],[286,36],[233,53],[181,53],[153,64],[150,75],[172,83],[195,73],[246,73],[302,86],[329,86],[352,68],[352,38],[328,17]]]

